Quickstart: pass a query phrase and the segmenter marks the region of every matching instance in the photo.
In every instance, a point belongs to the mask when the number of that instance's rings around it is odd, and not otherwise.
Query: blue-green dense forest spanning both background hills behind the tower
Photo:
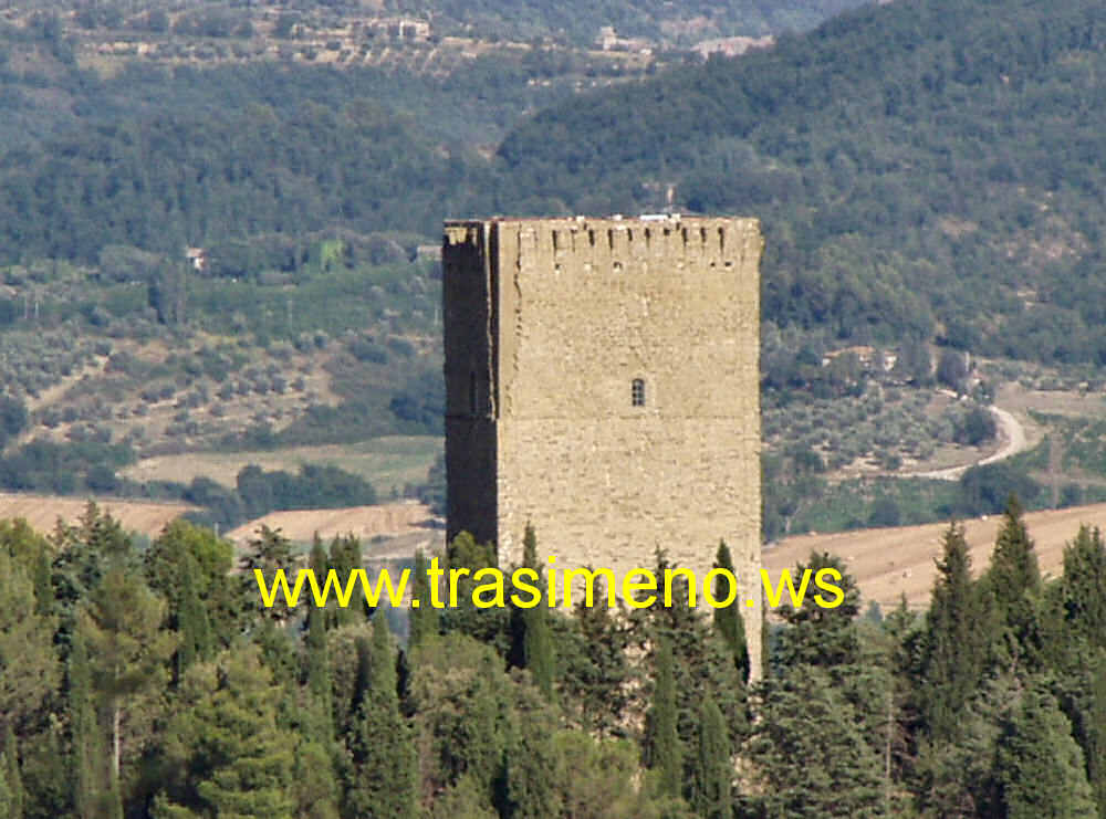
[[[1100,364],[1103,31],[1085,0],[862,9],[565,98],[491,161],[474,124],[494,140],[540,105],[541,60],[418,80],[263,65],[102,80],[59,60],[3,76],[10,130],[35,137],[0,159],[3,253],[88,263],[107,244],[336,225],[432,238],[447,216],[656,209],[671,187],[677,207],[762,219],[766,322]],[[51,42],[9,36],[17,52]]]

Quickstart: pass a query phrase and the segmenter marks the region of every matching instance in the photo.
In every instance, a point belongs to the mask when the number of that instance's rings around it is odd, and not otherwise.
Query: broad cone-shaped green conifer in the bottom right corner
[[[1051,694],[1031,690],[999,743],[997,760],[1009,819],[1067,819],[1096,813],[1083,752]]]

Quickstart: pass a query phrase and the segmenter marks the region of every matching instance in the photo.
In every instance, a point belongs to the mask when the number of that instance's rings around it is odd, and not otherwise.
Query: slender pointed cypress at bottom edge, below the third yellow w
[[[352,749],[354,779],[346,792],[347,808],[352,816],[414,817],[418,760],[410,725],[399,712],[396,651],[383,617],[373,618],[371,668],[372,684]]]

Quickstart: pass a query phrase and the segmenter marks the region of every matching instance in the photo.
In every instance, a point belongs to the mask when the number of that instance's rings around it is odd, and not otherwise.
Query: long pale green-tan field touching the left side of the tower
[[[239,471],[248,464],[265,470],[295,472],[302,463],[340,466],[366,479],[379,495],[406,483],[422,483],[442,440],[434,435],[388,435],[371,441],[325,447],[292,447],[257,452],[188,452],[147,458],[119,474],[135,481],[179,481],[209,477],[234,486]]]

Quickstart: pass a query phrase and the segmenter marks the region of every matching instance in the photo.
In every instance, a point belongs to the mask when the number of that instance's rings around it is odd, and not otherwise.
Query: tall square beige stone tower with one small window
[[[447,535],[617,577],[733,554],[760,670],[755,219],[448,221]],[[747,606],[749,600],[753,606]],[[701,603],[700,603],[701,605]]]

